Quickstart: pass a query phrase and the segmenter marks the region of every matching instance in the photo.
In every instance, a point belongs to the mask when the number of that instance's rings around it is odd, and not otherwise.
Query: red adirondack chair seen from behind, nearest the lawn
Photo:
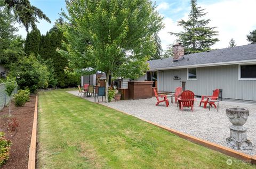
[[[193,111],[194,100],[195,100],[194,96],[195,96],[194,92],[190,90],[183,91],[181,93],[181,98],[178,98],[180,109],[183,110],[183,107],[191,107]]]

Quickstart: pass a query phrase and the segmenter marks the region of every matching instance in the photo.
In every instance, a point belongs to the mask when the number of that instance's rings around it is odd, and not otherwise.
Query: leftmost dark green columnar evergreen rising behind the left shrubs
[[[38,29],[33,29],[28,33],[25,43],[25,53],[27,55],[34,53],[37,56],[39,54],[40,38],[41,33]]]

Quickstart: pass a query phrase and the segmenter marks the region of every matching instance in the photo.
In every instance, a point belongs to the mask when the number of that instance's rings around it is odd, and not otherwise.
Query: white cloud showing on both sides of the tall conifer
[[[205,9],[205,12],[207,12],[205,18],[211,19],[209,26],[217,27],[215,30],[219,31],[218,38],[220,41],[212,48],[228,47],[231,38],[234,38],[237,46],[248,44],[246,35],[249,34],[250,31],[256,29],[254,13],[256,6],[255,0],[247,0],[246,3],[243,0],[226,0],[214,3],[211,2],[211,4],[206,3],[207,2],[201,2],[198,3],[197,6],[201,6],[202,9]],[[172,8],[173,7],[170,7],[172,15],[167,15],[159,10],[161,15],[167,16],[163,20],[165,28],[159,32],[163,49],[166,49],[167,45],[173,44],[177,39],[176,37],[171,36],[168,32],[182,31],[182,27],[177,26],[177,21],[188,19],[187,8],[183,8],[182,10],[177,6],[175,6],[175,9]],[[174,21],[172,17],[175,14],[174,11],[177,11],[176,15],[179,16],[178,18],[175,18],[177,21]]]

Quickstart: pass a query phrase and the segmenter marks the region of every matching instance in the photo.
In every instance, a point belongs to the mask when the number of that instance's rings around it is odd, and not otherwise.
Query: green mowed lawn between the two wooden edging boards
[[[65,90],[38,101],[38,168],[255,168]]]

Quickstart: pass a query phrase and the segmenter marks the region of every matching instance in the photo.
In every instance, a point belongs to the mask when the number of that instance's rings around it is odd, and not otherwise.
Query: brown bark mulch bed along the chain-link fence
[[[9,107],[4,107],[0,111],[0,131],[5,132],[7,139],[12,141],[10,158],[0,168],[27,168],[28,153],[31,139],[31,131],[33,127],[33,118],[35,111],[36,96],[30,96],[30,102],[23,107],[15,107],[11,104],[11,117],[9,117]],[[19,126],[17,131],[8,132],[7,121],[16,118]],[[13,136],[14,135],[14,136]]]

